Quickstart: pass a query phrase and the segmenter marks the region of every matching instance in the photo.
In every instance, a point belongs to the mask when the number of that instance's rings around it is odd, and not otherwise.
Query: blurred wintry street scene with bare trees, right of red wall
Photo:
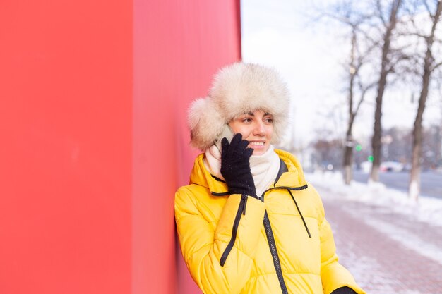
[[[280,147],[321,193],[340,261],[367,293],[441,292],[441,10],[241,1],[243,60],[275,66],[292,92]]]

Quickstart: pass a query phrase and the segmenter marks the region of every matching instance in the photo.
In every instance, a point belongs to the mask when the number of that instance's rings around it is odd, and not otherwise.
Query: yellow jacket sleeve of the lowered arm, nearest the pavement
[[[358,294],[364,294],[364,290],[360,288],[354,281],[350,271],[345,269],[338,262],[336,255],[335,240],[330,228],[330,223],[325,219],[325,212],[321,197],[316,192],[316,200],[318,201],[318,221],[319,221],[319,238],[321,241],[321,280],[323,293],[330,294],[334,290],[341,287],[352,288]]]

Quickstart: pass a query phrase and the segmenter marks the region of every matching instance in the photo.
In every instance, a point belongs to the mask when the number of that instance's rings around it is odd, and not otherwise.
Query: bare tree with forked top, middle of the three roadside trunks
[[[379,180],[379,166],[381,165],[381,116],[382,116],[382,99],[383,93],[386,90],[387,76],[393,72],[393,61],[391,54],[390,43],[393,39],[393,30],[398,22],[398,11],[402,0],[393,0],[388,12],[388,20],[385,19],[384,12],[381,6],[381,0],[376,1],[378,8],[378,17],[383,23],[383,46],[381,54],[381,68],[379,73],[379,80],[377,83],[376,95],[376,111],[374,114],[374,133],[371,139],[371,147],[373,149],[373,165],[371,166],[369,180],[377,182]]]

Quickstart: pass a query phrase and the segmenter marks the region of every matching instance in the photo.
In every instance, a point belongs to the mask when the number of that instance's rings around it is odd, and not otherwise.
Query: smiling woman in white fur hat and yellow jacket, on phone
[[[191,105],[191,145],[203,153],[175,195],[175,219],[203,293],[364,293],[338,263],[299,161],[273,147],[288,109],[279,75],[246,63],[222,68],[208,97]],[[229,133],[230,142],[221,138]]]

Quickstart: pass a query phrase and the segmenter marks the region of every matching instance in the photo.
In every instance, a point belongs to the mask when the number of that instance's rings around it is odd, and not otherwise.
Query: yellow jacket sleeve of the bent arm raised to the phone
[[[214,225],[200,212],[207,207],[197,201],[188,188],[180,188],[175,195],[175,220],[184,261],[203,293],[239,293],[250,277],[265,204],[253,197],[230,195]]]

